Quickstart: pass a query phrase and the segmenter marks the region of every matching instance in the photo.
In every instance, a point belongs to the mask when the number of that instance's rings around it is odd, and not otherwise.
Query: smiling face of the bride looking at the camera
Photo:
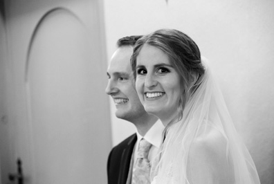
[[[136,90],[145,111],[166,126],[178,115],[182,95],[179,74],[159,48],[145,44],[136,58]]]

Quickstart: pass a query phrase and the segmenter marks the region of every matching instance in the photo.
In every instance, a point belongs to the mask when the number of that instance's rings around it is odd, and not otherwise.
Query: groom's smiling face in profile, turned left
[[[122,46],[113,54],[107,68],[109,83],[106,88],[106,93],[111,95],[116,104],[117,118],[130,122],[134,122],[136,118],[146,113],[135,89],[134,75],[130,65],[132,53],[132,46]]]

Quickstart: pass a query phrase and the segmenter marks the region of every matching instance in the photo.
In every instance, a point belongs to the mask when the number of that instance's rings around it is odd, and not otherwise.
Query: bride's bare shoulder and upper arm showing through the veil
[[[200,134],[190,146],[188,176],[193,183],[232,183],[228,154],[228,142],[221,131],[212,128]]]

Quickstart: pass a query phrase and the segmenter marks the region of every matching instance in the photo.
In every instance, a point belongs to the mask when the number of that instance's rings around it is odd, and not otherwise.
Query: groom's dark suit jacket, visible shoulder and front
[[[107,178],[109,184],[125,184],[129,173],[132,151],[137,141],[133,134],[113,147],[107,160]]]

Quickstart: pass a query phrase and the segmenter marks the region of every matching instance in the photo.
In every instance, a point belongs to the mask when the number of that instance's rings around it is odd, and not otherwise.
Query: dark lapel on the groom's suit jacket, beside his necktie
[[[134,150],[134,145],[137,141],[137,136],[136,134],[132,136],[131,140],[129,140],[127,147],[122,151],[122,159],[120,163],[120,168],[121,172],[119,175],[119,184],[125,184],[127,182],[127,176],[129,174],[129,167],[130,167],[130,162],[131,162],[131,156],[132,152]]]

